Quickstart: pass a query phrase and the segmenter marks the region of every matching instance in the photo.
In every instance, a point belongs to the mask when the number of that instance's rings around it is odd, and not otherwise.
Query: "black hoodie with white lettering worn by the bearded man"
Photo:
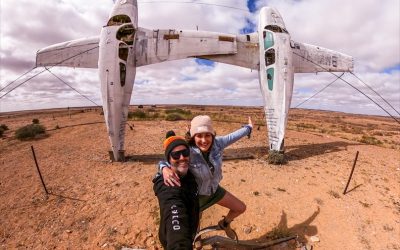
[[[160,205],[158,236],[165,249],[193,249],[192,241],[199,224],[198,189],[188,171],[180,178],[180,187],[168,187],[162,175],[153,179],[153,190]]]

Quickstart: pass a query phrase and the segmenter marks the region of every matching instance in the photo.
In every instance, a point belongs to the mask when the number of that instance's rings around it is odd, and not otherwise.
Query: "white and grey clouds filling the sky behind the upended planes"
[[[112,0],[1,0],[1,86],[32,68],[38,49],[98,35],[112,4]],[[218,1],[218,4],[246,9],[246,1],[242,0]],[[400,64],[399,1],[270,0],[257,1],[257,4],[258,7],[275,6],[293,40],[354,56],[356,74],[400,109],[399,71],[381,73],[385,68]],[[246,18],[258,20],[257,13],[175,1],[151,4],[139,1],[138,7],[139,26],[149,29],[196,29],[198,26],[200,30],[239,33],[246,26]],[[96,70],[54,68],[52,72],[101,103]],[[347,75],[345,79],[370,93],[353,76]],[[334,76],[329,73],[296,75],[292,106],[332,80]],[[3,94],[1,92],[0,96]],[[210,68],[186,59],[138,68],[132,103],[262,105],[262,99],[257,71],[219,63]],[[0,99],[0,112],[84,105],[92,104],[45,73]],[[384,114],[341,81],[302,107]]]

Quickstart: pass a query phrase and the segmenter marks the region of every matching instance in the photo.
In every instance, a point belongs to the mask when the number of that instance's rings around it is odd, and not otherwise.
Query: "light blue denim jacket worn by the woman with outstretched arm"
[[[246,125],[243,128],[225,136],[215,137],[209,154],[209,160],[215,168],[214,174],[211,173],[211,170],[207,164],[207,161],[204,159],[201,150],[197,146],[190,147],[189,169],[196,178],[200,195],[214,194],[222,180],[222,156],[224,149],[232,143],[238,141],[240,138],[249,135],[251,130],[252,128],[249,125]],[[169,166],[169,164],[165,161],[161,161],[158,166],[160,172],[162,172],[162,168]]]

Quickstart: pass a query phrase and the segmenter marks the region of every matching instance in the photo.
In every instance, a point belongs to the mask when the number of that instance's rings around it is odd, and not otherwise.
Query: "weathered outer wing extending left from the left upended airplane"
[[[38,50],[36,53],[36,67],[97,68],[98,59],[99,38],[89,37],[54,44]]]

